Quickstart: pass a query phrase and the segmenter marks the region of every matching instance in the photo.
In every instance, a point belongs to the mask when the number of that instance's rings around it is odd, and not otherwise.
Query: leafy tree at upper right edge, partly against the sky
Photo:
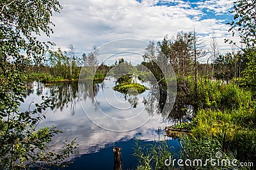
[[[244,80],[247,85],[256,85],[256,3],[253,0],[244,1],[238,0],[234,3],[234,10],[231,11],[234,14],[232,22],[228,22],[232,36],[238,33],[240,42],[245,45],[243,50],[244,60],[246,62],[246,68],[243,72]],[[225,40],[225,42],[233,43],[232,40]]]

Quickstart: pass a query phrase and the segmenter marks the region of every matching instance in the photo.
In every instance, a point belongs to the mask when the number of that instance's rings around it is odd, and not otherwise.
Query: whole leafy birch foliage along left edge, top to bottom
[[[53,33],[52,13],[60,12],[62,7],[56,0],[6,0],[0,1],[0,6],[0,169],[61,166],[74,150],[74,141],[65,143],[56,153],[48,146],[60,131],[54,127],[35,128],[45,118],[51,98],[44,97],[35,109],[25,112],[19,111],[19,105],[26,91],[29,58],[42,61],[53,44],[40,42],[37,37]]]

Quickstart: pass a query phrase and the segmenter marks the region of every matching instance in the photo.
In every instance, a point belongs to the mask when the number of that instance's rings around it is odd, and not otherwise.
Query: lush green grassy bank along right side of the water
[[[179,123],[168,127],[171,134],[179,137],[182,144],[182,160],[216,158],[252,162],[256,160],[256,101],[253,91],[239,88],[234,83],[221,81],[188,80],[190,103],[198,108],[192,123]],[[159,152],[163,148],[159,148]],[[142,150],[141,150],[142,151]],[[152,157],[147,157],[148,160]],[[147,160],[147,161],[148,161]],[[145,162],[147,162],[145,161]],[[141,164],[143,165],[143,164]],[[140,166],[141,166],[140,165]],[[138,166],[138,169],[140,169]],[[196,169],[234,169],[237,166],[221,165],[193,167]],[[157,166],[151,164],[151,169]],[[174,167],[170,168],[173,169]],[[191,167],[186,167],[187,169]],[[239,169],[253,169],[252,164]]]

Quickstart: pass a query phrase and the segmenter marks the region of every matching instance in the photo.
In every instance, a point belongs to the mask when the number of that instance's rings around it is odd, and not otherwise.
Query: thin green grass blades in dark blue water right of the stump
[[[139,141],[135,141],[134,157],[139,161],[136,169],[174,169],[166,166],[164,161],[173,158],[172,148],[168,146],[166,141],[154,141],[154,144],[141,145]]]

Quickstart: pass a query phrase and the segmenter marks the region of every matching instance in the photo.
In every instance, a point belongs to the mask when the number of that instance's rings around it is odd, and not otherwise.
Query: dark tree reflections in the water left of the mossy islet
[[[77,102],[86,98],[90,98],[92,102],[94,102],[94,96],[97,95],[101,84],[99,82],[58,82],[52,84],[44,84],[40,81],[28,81],[27,91],[24,93],[24,98],[29,97],[29,95],[33,95],[36,90],[36,95],[41,96],[44,89],[49,90],[49,96],[52,98],[52,111],[63,111],[63,109],[70,108],[71,114],[75,114],[75,107]],[[36,89],[34,89],[36,86]],[[93,90],[90,90],[93,89]],[[81,98],[81,94],[83,94],[83,98]]]

